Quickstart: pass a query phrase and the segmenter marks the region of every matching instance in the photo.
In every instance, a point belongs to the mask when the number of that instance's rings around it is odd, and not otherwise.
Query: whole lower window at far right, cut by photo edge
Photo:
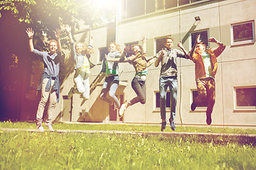
[[[256,87],[235,87],[235,108],[256,109]]]

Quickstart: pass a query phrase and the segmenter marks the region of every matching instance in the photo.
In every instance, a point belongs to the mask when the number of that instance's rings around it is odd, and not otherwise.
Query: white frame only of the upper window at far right
[[[241,40],[238,42],[234,42],[234,32],[233,32],[233,26],[238,26],[246,23],[252,23],[252,40]],[[245,21],[245,22],[240,22],[240,23],[231,23],[230,24],[230,34],[231,34],[231,45],[243,45],[243,44],[248,44],[248,43],[253,43],[255,42],[255,21]]]

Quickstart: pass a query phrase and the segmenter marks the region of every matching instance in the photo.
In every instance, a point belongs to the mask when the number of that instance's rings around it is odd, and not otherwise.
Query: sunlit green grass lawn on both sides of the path
[[[31,128],[35,123],[0,123]],[[54,123],[55,129],[160,131],[159,125]],[[166,128],[166,131],[170,131]],[[254,130],[177,127],[177,132],[255,134]],[[164,137],[0,130],[0,169],[256,169],[256,139]]]

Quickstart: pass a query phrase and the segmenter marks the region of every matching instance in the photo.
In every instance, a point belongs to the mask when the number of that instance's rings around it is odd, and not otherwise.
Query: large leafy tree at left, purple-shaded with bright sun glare
[[[31,27],[37,35],[45,35],[51,39],[55,38],[53,31],[65,24],[79,29],[82,25],[92,28],[102,21],[111,21],[114,7],[102,10],[95,1],[97,0],[0,1],[0,119],[19,120],[19,112],[25,107],[24,103],[27,109],[36,105],[26,102],[25,98],[26,91],[31,88],[32,65],[36,60],[28,52],[26,28]],[[64,31],[61,37],[63,47],[67,48],[68,40]],[[40,41],[40,38],[38,40],[38,47],[46,50],[47,42]]]

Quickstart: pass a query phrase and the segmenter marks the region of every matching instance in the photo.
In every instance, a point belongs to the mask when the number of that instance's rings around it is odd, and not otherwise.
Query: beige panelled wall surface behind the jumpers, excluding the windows
[[[256,58],[253,52],[256,50],[255,43],[249,45],[232,46],[230,38],[230,24],[244,21],[252,21],[256,18],[255,0],[226,0],[210,1],[194,6],[186,6],[181,11],[173,10],[163,13],[155,13],[142,18],[133,18],[121,21],[118,26],[117,42],[124,45],[127,42],[139,40],[142,35],[148,38],[146,51],[147,56],[156,55],[155,38],[172,35],[177,43],[188,34],[195,23],[195,16],[200,16],[201,22],[196,30],[209,30],[210,37],[215,37],[227,45],[225,51],[218,57],[218,72],[216,74],[216,101],[213,109],[212,125],[250,125],[256,126],[256,111],[234,111],[234,86],[256,86]],[[181,24],[181,27],[179,26]],[[97,66],[91,69],[90,82],[100,72],[99,47],[107,46],[107,28],[92,30],[94,35],[95,57],[93,63]],[[79,34],[76,36],[80,36]],[[190,48],[190,39],[183,42],[184,47]],[[210,47],[217,47],[213,43]],[[131,64],[119,64],[121,81],[126,81],[127,86],[122,87],[124,100],[131,100],[136,96],[132,89],[131,81],[134,77],[134,68]],[[146,80],[146,104],[137,103],[127,109],[124,114],[124,123],[159,123],[160,111],[155,109],[155,91],[159,91],[160,67],[149,67],[149,75]],[[65,80],[61,95],[67,95],[73,86],[73,74]],[[176,123],[186,125],[206,125],[206,108],[190,111],[191,90],[196,89],[194,64],[190,60],[178,59],[178,100],[176,107]],[[107,116],[108,106],[99,100],[100,86],[93,91],[90,100],[80,106],[81,99],[78,94],[73,99],[73,120],[77,121],[79,112],[87,106],[89,115],[97,115],[99,119],[84,118],[85,121],[100,121]],[[95,102],[96,101],[96,102]],[[61,101],[60,101],[61,103]],[[62,106],[63,107],[63,106]],[[60,104],[58,111],[61,111]],[[95,113],[97,112],[97,113]],[[101,112],[101,113],[99,113]],[[88,115],[88,114],[87,114]],[[89,116],[88,115],[88,116]],[[167,118],[169,111],[167,111]]]

